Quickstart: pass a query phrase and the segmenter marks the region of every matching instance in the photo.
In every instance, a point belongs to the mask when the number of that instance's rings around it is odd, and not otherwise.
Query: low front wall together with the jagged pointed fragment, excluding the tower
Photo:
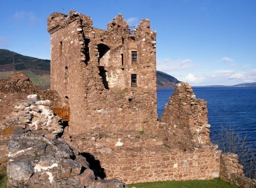
[[[131,183],[218,177],[220,151],[210,143],[209,130],[202,133],[195,127],[210,127],[206,102],[181,83],[154,134],[137,130],[69,134],[66,127],[62,137],[82,155],[99,160],[106,178]],[[199,136],[207,143],[194,138]],[[102,169],[94,170],[102,173]]]

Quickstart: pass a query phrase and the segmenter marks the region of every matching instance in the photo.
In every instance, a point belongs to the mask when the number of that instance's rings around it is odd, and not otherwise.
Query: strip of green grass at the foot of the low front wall
[[[186,180],[186,181],[158,181],[158,182],[146,182],[146,183],[134,183],[128,184],[128,187],[136,188],[165,188],[165,187],[177,187],[177,188],[185,188],[185,187],[194,187],[194,188],[221,188],[221,187],[238,187],[236,185],[231,185],[230,183],[221,180],[220,178],[212,179],[212,180]]]

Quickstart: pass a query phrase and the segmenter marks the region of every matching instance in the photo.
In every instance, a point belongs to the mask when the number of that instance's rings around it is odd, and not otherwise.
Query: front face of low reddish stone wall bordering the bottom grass
[[[220,151],[206,147],[197,151],[170,151],[157,148],[116,149],[92,154],[100,160],[106,178],[125,183],[213,179],[219,176]]]

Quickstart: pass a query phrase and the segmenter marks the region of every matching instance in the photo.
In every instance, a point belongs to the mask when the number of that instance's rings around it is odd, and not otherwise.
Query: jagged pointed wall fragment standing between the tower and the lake
[[[176,84],[159,124],[159,134],[166,144],[193,148],[210,143],[206,105],[207,102],[196,98],[190,85]]]

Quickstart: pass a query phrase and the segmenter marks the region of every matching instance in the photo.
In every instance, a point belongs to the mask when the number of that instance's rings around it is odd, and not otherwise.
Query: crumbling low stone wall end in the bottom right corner
[[[238,163],[238,156],[233,153],[221,154],[219,177],[239,187],[256,187],[256,179],[244,176],[243,166]]]

